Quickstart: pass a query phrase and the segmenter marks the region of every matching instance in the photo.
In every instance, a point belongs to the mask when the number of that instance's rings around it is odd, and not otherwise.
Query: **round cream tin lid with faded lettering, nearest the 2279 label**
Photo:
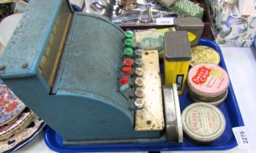
[[[183,130],[187,136],[200,142],[211,142],[225,130],[225,117],[216,106],[192,103],[181,114]]]

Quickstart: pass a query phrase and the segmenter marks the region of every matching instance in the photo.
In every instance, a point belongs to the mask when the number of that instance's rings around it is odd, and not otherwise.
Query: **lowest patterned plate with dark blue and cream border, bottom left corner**
[[[14,152],[29,143],[45,126],[45,122],[34,114],[29,125],[11,138],[0,141],[0,152]]]

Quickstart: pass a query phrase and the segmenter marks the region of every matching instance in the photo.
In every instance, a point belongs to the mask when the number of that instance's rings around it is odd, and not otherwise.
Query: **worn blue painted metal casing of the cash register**
[[[74,12],[56,80],[53,88],[49,86],[38,69],[42,60],[55,60],[42,55],[60,6],[61,0],[30,1],[25,19],[7,44],[8,55],[4,52],[1,58],[1,79],[64,142],[162,141],[161,131],[134,130],[132,103],[124,98],[130,91],[124,96],[116,92],[124,31],[103,17]]]

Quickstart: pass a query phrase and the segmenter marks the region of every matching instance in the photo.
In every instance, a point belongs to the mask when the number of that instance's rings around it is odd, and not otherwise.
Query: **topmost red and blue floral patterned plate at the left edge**
[[[25,108],[24,103],[0,79],[0,126],[17,119]]]

